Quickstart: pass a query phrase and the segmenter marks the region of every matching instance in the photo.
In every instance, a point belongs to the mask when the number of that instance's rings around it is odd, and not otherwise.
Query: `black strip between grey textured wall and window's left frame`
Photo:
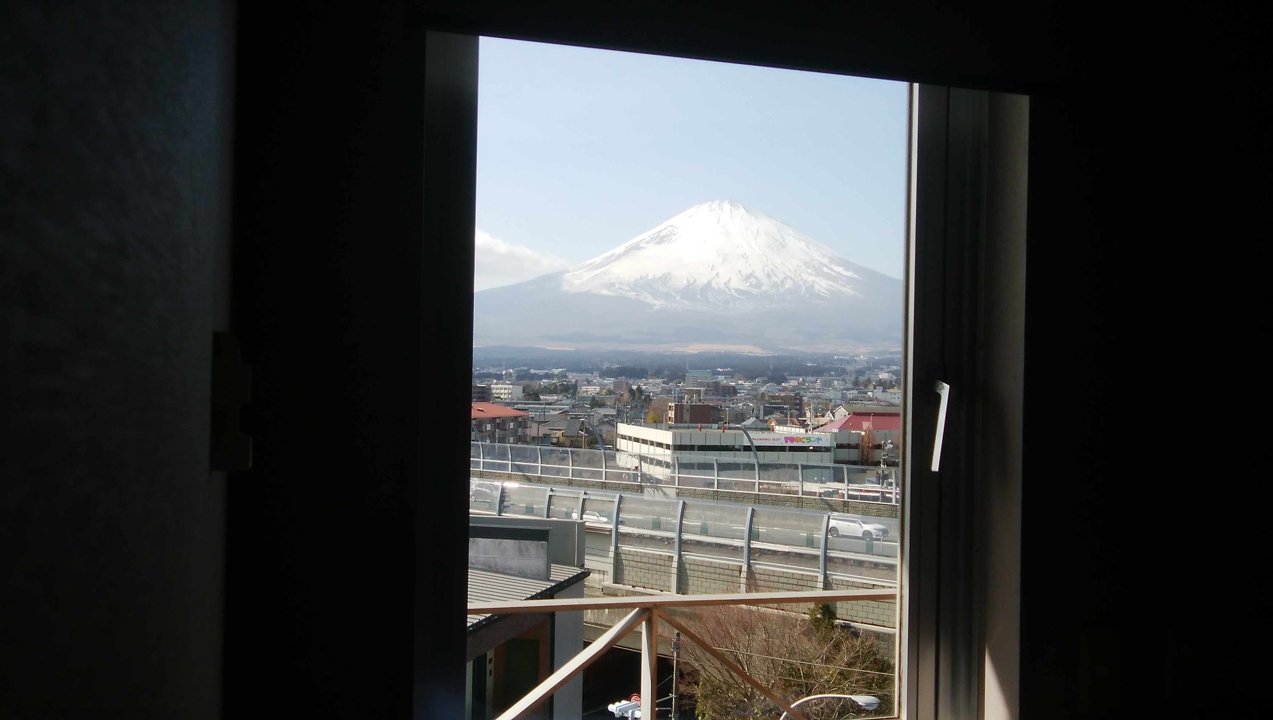
[[[228,488],[225,712],[406,717],[423,33],[392,5],[265,3],[239,9],[237,41],[253,467]]]

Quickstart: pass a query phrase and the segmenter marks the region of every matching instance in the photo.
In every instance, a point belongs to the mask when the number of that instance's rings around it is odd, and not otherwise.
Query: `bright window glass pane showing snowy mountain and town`
[[[481,53],[470,513],[510,536],[552,525],[552,572],[582,565],[586,597],[892,593],[906,85],[490,38]],[[670,613],[791,701],[858,697],[813,702],[815,720],[894,714],[896,608]],[[583,612],[583,636],[625,613]],[[504,677],[508,649],[484,651]],[[780,714],[700,650],[679,663],[661,707]],[[639,691],[629,675],[588,675],[606,700],[583,710],[608,716]]]

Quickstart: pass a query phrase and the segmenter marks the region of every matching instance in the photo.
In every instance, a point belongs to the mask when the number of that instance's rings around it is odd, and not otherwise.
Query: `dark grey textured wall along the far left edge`
[[[0,4],[0,716],[218,717],[219,0]]]

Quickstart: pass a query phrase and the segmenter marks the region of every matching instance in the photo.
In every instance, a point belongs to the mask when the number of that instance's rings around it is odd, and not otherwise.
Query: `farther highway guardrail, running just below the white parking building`
[[[554,481],[600,481],[724,492],[901,502],[899,468],[829,463],[766,463],[709,455],[642,455],[544,445],[470,443],[470,469]]]

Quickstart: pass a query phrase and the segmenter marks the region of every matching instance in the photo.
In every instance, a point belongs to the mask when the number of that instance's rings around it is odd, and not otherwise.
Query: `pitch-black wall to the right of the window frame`
[[[1267,621],[1242,579],[1265,541],[1241,478],[1259,473],[1262,421],[1241,382],[1223,429],[1188,419],[1208,377],[1246,366],[1260,314],[1244,296],[1251,139],[1226,130],[1242,112],[1217,89],[1031,99],[1021,677],[1035,717],[1206,711],[1249,691],[1237,678]]]

